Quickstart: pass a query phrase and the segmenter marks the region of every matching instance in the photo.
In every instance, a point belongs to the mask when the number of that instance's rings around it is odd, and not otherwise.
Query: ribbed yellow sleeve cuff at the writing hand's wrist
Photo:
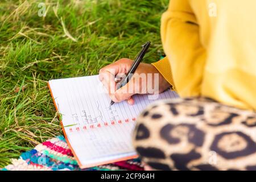
[[[174,80],[172,79],[171,65],[167,57],[162,60],[152,63],[159,73],[171,84],[171,89],[175,90]],[[176,91],[176,90],[175,90]]]

